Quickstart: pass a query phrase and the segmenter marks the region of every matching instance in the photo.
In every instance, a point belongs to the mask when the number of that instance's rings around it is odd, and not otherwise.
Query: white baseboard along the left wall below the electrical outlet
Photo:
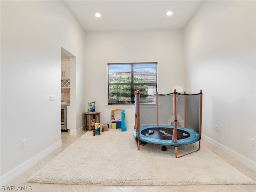
[[[42,160],[43,158],[45,158],[46,156],[48,156],[49,154],[51,154],[52,152],[54,152],[56,149],[58,149],[61,146],[62,146],[62,141],[59,140],[52,146],[46,148],[45,150],[38,153],[34,157],[30,158],[29,160],[27,160],[24,163],[17,166],[13,170],[10,170],[6,174],[2,175],[0,177],[1,186],[4,186],[4,185],[8,184],[9,182],[11,182],[12,180],[14,180],[18,176],[20,176],[22,173],[24,173],[26,170],[28,170],[30,167],[32,167],[34,164],[36,164],[38,161]]]

